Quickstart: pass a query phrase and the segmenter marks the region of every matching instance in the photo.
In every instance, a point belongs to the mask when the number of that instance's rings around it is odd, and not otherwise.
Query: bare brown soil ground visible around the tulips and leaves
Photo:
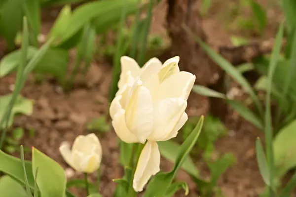
[[[152,33],[164,34],[165,8],[163,6],[164,3],[161,3],[154,10]],[[204,30],[209,37],[209,42],[214,47],[229,45],[230,35],[245,34],[238,31],[229,33],[224,30],[221,21],[218,20],[219,14],[221,14],[221,6],[221,1],[215,2],[213,8],[209,11],[209,15],[203,20]],[[52,25],[52,17],[55,17],[57,13],[52,9],[46,9],[42,12],[44,15],[42,18],[43,34],[48,33]],[[275,19],[276,21],[279,20],[277,12],[273,9],[268,10],[268,13],[269,21],[272,21],[272,23],[268,24],[264,39],[274,36],[276,29],[274,21]],[[3,48],[0,50],[4,51]],[[71,53],[71,59],[74,59],[74,55],[74,53]],[[14,83],[14,77],[12,75],[0,79],[0,95],[11,92],[9,87]],[[106,114],[110,83],[111,65],[102,59],[92,62],[86,78],[88,85],[76,83],[74,90],[70,93],[64,93],[53,80],[36,84],[33,78],[30,78],[22,90],[22,95],[35,100],[33,115],[31,117],[19,116],[15,118],[14,123],[15,127],[20,126],[27,131],[22,141],[23,145],[36,147],[69,171],[69,166],[59,153],[59,146],[62,141],[73,142],[77,135],[86,134],[86,122]],[[196,109],[196,103],[189,103],[187,109],[189,114],[192,116],[206,114],[207,107],[202,100],[191,99],[191,102],[199,103],[197,106],[200,109]],[[256,161],[255,140],[258,136],[262,137],[262,133],[230,109],[226,119],[225,125],[229,129],[229,135],[219,139],[216,148],[221,154],[232,153],[236,157],[236,163],[222,175],[219,186],[225,197],[258,197],[263,189],[263,182]],[[32,128],[36,130],[34,138],[29,137],[28,131]],[[118,165],[119,153],[116,135],[113,131],[98,133],[98,135],[103,146],[100,193],[103,197],[111,197],[115,188],[112,179],[122,176],[122,168]],[[29,159],[30,155],[27,155],[26,158]],[[161,168],[168,170],[171,167],[172,163],[163,159]],[[200,171],[201,174],[208,175],[207,169],[203,165],[201,165]],[[74,174],[74,177],[78,176],[80,175]],[[91,178],[93,179],[95,176],[92,175]],[[197,186],[184,171],[181,170],[178,173],[178,179],[188,182],[189,197],[198,196]],[[79,193],[79,191],[74,192]],[[176,197],[183,196],[185,196],[183,191],[176,195]]]

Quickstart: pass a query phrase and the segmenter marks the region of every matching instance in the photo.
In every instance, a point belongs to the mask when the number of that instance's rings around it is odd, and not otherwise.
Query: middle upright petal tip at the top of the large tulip
[[[145,83],[150,76],[155,75],[161,69],[162,63],[157,58],[151,58],[143,67],[142,74],[140,75],[141,81]]]

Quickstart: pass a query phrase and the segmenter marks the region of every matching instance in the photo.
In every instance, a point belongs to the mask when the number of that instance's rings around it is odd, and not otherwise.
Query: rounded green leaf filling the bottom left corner
[[[0,178],[0,196],[1,197],[27,197],[24,188],[9,176]]]

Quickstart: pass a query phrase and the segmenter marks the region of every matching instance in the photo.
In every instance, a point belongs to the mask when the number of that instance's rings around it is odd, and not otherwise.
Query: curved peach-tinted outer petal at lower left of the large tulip
[[[136,143],[139,142],[138,138],[128,130],[125,123],[125,111],[119,110],[112,120],[112,126],[117,134],[117,136],[126,143]]]

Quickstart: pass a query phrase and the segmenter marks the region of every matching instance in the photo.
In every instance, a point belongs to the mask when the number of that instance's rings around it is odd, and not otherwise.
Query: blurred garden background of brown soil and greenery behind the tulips
[[[164,62],[178,55],[180,70],[196,75],[197,86],[188,99],[185,126],[171,143],[160,145],[161,169],[172,168],[178,144],[205,115],[191,158],[177,175],[188,183],[188,196],[258,197],[265,186],[255,142],[257,137],[264,141],[264,113],[256,110],[258,104],[265,106],[270,54],[284,24],[281,50],[277,46],[280,66],[270,90],[275,139],[271,146],[278,154],[274,162],[280,187],[296,165],[296,2],[284,1],[1,0],[0,118],[15,89],[23,16],[29,24],[27,61],[51,40],[11,111],[2,150],[19,157],[23,144],[30,159],[34,146],[58,161],[69,179],[76,179],[81,174],[63,160],[59,146],[94,132],[103,146],[100,193],[111,197],[116,185],[112,179],[123,174],[108,111],[117,91],[119,59],[128,55],[143,66],[152,57]],[[277,139],[283,129],[288,131]],[[73,192],[85,195],[79,189]],[[175,196],[185,195],[181,191]]]

